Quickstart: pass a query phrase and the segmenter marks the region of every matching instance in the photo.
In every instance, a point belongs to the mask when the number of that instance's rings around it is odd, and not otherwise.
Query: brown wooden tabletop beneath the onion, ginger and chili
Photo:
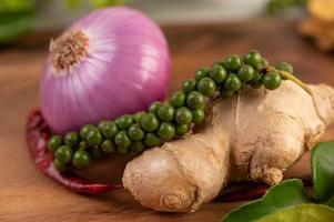
[[[171,90],[201,65],[227,53],[257,49],[270,61],[286,60],[306,82],[334,85],[334,56],[316,50],[296,32],[296,21],[164,27],[171,44]],[[68,192],[37,172],[24,141],[26,115],[39,104],[39,79],[48,39],[38,36],[0,51],[0,221],[220,221],[240,203],[209,203],[190,214],[144,209],[126,191],[101,196]],[[333,138],[330,130],[326,138]]]

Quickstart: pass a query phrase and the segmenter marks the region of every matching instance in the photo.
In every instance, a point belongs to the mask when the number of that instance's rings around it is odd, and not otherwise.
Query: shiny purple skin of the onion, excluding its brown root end
[[[97,10],[65,32],[73,30],[88,36],[88,57],[57,71],[50,54],[41,81],[41,110],[54,133],[146,110],[166,97],[169,47],[143,13],[125,7]]]

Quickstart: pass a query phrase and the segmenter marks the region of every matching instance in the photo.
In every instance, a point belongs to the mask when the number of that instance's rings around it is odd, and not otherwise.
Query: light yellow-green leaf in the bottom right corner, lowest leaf
[[[331,222],[333,209],[321,204],[302,204],[264,216],[256,222]]]

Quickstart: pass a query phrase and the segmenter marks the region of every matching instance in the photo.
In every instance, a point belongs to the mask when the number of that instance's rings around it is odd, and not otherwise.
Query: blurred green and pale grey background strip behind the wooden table
[[[13,43],[32,31],[60,30],[92,9],[114,4],[140,9],[161,24],[180,24],[236,21],[281,12],[291,16],[300,13],[296,11],[303,10],[306,2],[307,0],[1,0],[0,44]]]

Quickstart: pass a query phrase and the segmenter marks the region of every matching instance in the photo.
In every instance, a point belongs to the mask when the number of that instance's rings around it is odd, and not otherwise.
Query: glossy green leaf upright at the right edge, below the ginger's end
[[[321,142],[312,151],[312,180],[315,198],[327,201],[334,195],[334,142]]]

